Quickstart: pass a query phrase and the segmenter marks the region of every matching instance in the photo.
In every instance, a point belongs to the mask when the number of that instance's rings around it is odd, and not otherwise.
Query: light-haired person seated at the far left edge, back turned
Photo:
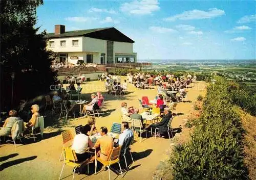
[[[17,117],[17,111],[15,110],[11,110],[9,112],[9,116],[6,120],[5,123],[3,125],[3,127],[0,130],[0,136],[9,136],[11,135],[11,130],[12,130],[12,126],[13,124],[20,120],[19,117]]]

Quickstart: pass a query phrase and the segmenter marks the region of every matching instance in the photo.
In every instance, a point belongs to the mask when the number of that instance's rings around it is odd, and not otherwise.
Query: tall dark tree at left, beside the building
[[[50,68],[52,52],[46,49],[46,32],[37,33],[36,8],[42,0],[4,0],[0,2],[1,24],[1,106],[9,106],[21,98],[29,99],[49,91],[56,81]],[[1,110],[1,109],[0,109]]]

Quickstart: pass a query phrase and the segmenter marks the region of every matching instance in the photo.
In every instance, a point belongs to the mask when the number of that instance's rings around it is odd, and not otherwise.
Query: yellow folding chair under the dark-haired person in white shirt
[[[65,156],[65,161],[63,162],[63,166],[59,175],[59,180],[61,177],[61,174],[63,172],[63,169],[65,167],[65,165],[71,166],[74,168],[73,170],[73,180],[74,180],[74,176],[75,176],[75,170],[79,167],[81,167],[84,164],[87,164],[87,173],[89,173],[89,164],[93,163],[93,161],[95,160],[95,156],[91,157],[89,159],[87,159],[86,161],[82,161],[82,162],[77,162],[77,157],[76,157],[76,153],[74,150],[72,150],[70,147],[66,147],[65,151],[64,151],[64,156]]]

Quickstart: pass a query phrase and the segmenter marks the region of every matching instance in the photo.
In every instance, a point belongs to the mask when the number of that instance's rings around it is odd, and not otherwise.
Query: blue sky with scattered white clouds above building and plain
[[[256,59],[256,0],[45,0],[40,31],[115,27],[137,59]]]

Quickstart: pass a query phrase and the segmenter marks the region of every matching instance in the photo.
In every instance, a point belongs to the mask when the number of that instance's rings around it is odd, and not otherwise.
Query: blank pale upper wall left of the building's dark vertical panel
[[[83,37],[83,52],[106,53],[106,41],[101,39]]]

